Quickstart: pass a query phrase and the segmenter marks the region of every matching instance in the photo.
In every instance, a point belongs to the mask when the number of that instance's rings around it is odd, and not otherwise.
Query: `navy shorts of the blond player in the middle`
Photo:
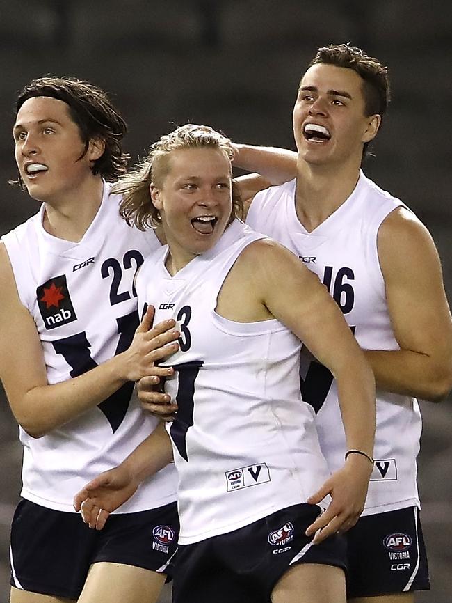
[[[173,603],[270,602],[277,581],[294,564],[345,569],[343,536],[310,545],[305,535],[320,512],[318,506],[294,505],[239,530],[179,545]]]

